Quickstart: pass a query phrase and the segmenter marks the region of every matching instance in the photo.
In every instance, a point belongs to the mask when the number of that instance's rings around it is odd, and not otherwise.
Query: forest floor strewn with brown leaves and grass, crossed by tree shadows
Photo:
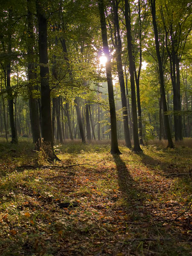
[[[33,147],[0,141],[1,256],[192,256],[192,148]]]

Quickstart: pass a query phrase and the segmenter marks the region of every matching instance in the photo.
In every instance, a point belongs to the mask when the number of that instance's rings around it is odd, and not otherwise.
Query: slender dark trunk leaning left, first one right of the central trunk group
[[[160,87],[161,87],[161,94],[162,94],[162,101],[163,101],[163,112],[164,112],[166,134],[167,134],[167,139],[168,139],[168,147],[174,148],[173,141],[172,141],[172,135],[171,135],[171,129],[169,126],[169,117],[167,115],[166,94],[165,94],[164,76],[163,76],[163,65],[162,65],[161,56],[160,56],[159,38],[158,38],[157,23],[156,23],[155,0],[150,0],[150,8],[151,8],[151,14],[152,14],[152,19],[153,19],[155,48],[156,48],[156,53],[157,53],[158,66],[159,66]]]

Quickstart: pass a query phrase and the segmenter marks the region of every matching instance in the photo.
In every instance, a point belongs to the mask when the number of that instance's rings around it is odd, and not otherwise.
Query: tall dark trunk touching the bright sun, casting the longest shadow
[[[111,154],[121,154],[118,148],[118,141],[117,141],[116,111],[115,111],[115,102],[114,102],[114,95],[113,95],[113,81],[112,81],[112,74],[111,74],[111,57],[109,55],[103,0],[99,0],[99,15],[100,15],[100,22],[101,22],[101,29],[102,29],[103,51],[105,53],[105,56],[107,57],[105,68],[106,68],[106,75],[107,75],[107,82],[108,82],[109,108],[110,108],[110,117],[111,117]]]

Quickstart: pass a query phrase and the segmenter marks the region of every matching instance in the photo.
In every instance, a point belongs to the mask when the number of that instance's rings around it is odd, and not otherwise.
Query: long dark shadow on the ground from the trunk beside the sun
[[[128,205],[140,204],[145,199],[145,194],[137,188],[137,182],[133,180],[125,162],[118,156],[113,155],[116,163],[119,189]]]

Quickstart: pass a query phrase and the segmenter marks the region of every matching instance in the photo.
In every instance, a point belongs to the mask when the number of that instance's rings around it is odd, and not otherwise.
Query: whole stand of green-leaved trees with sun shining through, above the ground
[[[134,151],[192,131],[187,0],[21,0],[0,9],[0,132],[117,140]],[[53,156],[54,158],[54,156]]]

